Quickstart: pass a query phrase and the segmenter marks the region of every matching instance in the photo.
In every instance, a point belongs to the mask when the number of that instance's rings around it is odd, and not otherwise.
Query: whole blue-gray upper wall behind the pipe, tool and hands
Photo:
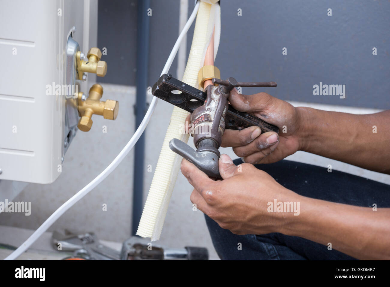
[[[189,0],[189,12],[193,9]],[[216,58],[223,78],[273,80],[284,100],[390,109],[389,1],[222,0]],[[237,9],[242,9],[242,16]],[[327,16],[327,9],[332,16]],[[151,0],[149,86],[158,79],[178,33],[178,0]],[[108,46],[104,82],[135,84],[137,1],[99,0],[99,46]],[[188,35],[191,45],[193,26]],[[282,55],[282,48],[287,55]],[[372,55],[372,48],[378,49]],[[114,52],[110,52],[114,51]],[[114,70],[114,71],[113,71]],[[172,65],[176,76],[176,62]],[[346,98],[314,96],[313,85],[345,84]]]

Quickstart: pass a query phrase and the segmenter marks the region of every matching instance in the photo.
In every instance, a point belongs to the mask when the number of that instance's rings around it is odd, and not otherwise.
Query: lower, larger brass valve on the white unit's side
[[[80,120],[77,127],[83,132],[88,132],[92,127],[92,115],[98,114],[105,119],[116,119],[119,111],[119,102],[114,100],[101,101],[103,96],[103,87],[94,84],[90,90],[87,100],[82,101],[82,94],[78,93],[78,112]]]

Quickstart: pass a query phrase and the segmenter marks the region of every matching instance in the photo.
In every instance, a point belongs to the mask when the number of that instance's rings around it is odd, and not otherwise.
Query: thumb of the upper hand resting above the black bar
[[[236,89],[230,91],[229,96],[229,102],[231,105],[234,109],[240,112],[266,111],[278,101],[280,100],[267,93],[245,95],[239,94]]]

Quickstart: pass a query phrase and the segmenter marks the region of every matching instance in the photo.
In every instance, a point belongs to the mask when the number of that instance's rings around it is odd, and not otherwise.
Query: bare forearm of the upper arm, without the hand
[[[390,173],[390,111],[356,115],[307,107],[297,110],[300,150]]]

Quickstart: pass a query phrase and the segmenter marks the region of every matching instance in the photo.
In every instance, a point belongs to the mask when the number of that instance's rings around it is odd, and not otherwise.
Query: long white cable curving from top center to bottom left
[[[179,37],[176,40],[176,43],[174,47],[172,48],[172,51],[168,57],[167,62],[165,63],[164,69],[161,72],[161,75],[168,73],[168,70],[170,66],[172,65],[172,62],[176,56],[177,50],[179,49],[180,43],[183,40],[184,35],[187,33],[188,29],[190,28],[192,22],[195,19],[195,16],[199,9],[200,1],[197,2],[197,4],[194,7],[194,10],[192,11],[192,14],[190,18],[188,18],[188,21],[186,25],[183,28],[183,31],[181,31]],[[100,182],[102,182],[126,157],[126,155],[130,152],[130,150],[133,148],[135,143],[137,143],[138,139],[144,132],[147,124],[149,123],[149,120],[154,112],[154,109],[157,105],[157,97],[153,97],[153,100],[149,106],[149,109],[147,110],[144,119],[142,120],[140,126],[135,131],[134,135],[131,137],[130,141],[126,144],[126,146],[123,148],[123,150],[115,157],[115,159],[111,162],[109,166],[105,170],[103,170],[94,180],[92,180],[89,184],[87,184],[82,190],[80,190],[78,193],[74,194],[68,201],[66,201],[63,205],[61,205],[51,216],[46,219],[46,221],[39,226],[35,232],[28,237],[28,239],[21,244],[14,252],[12,252],[10,255],[8,255],[4,260],[14,260],[17,257],[19,257],[24,251],[26,251],[48,228],[60,217],[62,214],[64,214],[69,208],[71,208],[77,201],[79,201],[83,196],[85,196],[87,193],[89,193],[94,187],[96,187]]]

